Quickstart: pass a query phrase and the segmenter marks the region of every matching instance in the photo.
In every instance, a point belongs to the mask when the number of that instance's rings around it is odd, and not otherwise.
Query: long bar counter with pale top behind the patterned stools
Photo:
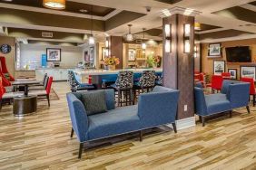
[[[143,73],[143,71],[154,70],[158,75],[162,74],[162,69],[127,69],[127,70],[74,70],[74,75],[76,80],[79,80],[81,83],[88,83],[89,77],[92,78],[92,83],[96,84],[98,88],[102,85],[102,77],[105,75],[117,75],[119,71],[133,71],[136,73]]]

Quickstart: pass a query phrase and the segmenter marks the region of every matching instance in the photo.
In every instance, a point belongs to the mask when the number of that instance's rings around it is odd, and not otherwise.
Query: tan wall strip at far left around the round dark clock
[[[14,76],[15,74],[15,38],[0,36],[0,46],[2,44],[9,44],[12,47],[10,53],[4,54],[0,52],[1,56],[5,57],[7,69]]]

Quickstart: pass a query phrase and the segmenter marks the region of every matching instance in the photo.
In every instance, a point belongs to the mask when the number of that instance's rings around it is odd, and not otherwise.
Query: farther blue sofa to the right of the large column
[[[202,88],[195,87],[195,112],[202,119],[202,126],[205,125],[205,117],[229,111],[232,109],[246,107],[249,109],[250,83],[224,80],[222,91],[217,94],[204,95]]]

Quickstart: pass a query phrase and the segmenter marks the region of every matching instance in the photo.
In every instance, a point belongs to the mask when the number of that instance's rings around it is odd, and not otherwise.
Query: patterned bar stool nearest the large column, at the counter
[[[133,104],[135,103],[137,91],[140,94],[141,92],[153,90],[155,78],[155,71],[143,71],[141,79],[133,86]]]

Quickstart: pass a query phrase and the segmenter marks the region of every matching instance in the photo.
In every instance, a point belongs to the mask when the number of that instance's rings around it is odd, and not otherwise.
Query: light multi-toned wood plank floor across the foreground
[[[77,159],[70,138],[65,82],[54,83],[59,100],[40,102],[36,114],[15,118],[11,106],[0,112],[0,169],[256,169],[256,109],[207,121],[205,127],[158,131],[113,145],[94,146]],[[127,137],[127,136],[125,136]],[[124,138],[125,138],[124,137]],[[115,137],[111,141],[119,140]]]

